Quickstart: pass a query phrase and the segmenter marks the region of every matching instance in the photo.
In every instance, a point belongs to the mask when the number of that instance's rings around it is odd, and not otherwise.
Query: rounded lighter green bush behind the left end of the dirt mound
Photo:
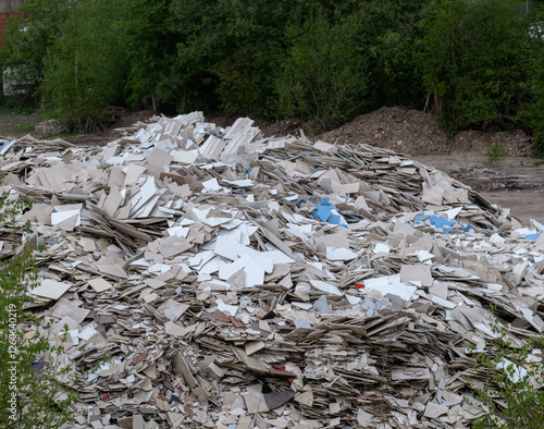
[[[286,28],[288,57],[277,79],[280,110],[327,130],[351,119],[368,93],[368,58],[347,42],[353,27],[321,9]]]

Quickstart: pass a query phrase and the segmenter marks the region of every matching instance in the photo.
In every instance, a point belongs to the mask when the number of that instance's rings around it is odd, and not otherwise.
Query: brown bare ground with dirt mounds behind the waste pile
[[[120,136],[115,128],[131,126],[152,114],[150,110],[126,112],[106,131],[64,138],[74,144],[102,146]],[[223,113],[206,118],[223,127],[236,119],[237,115]],[[37,122],[37,113],[0,115],[0,136],[28,134]],[[255,125],[264,136],[294,135],[304,130],[307,136],[327,143],[363,143],[395,150],[471,185],[491,203],[510,208],[512,214],[524,223],[530,219],[544,223],[544,166],[539,166],[539,159],[531,157],[530,137],[521,131],[483,133],[465,130],[448,139],[433,114],[401,107],[379,109],[321,135],[316,135],[308,124],[295,120],[268,122],[258,119]],[[500,144],[508,156],[490,166],[486,150],[492,143]]]

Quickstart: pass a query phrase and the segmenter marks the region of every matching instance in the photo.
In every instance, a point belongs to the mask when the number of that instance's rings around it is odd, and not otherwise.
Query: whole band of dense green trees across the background
[[[296,115],[321,128],[403,105],[431,107],[448,132],[521,126],[542,142],[535,4],[28,0],[0,63],[79,130],[112,103]]]

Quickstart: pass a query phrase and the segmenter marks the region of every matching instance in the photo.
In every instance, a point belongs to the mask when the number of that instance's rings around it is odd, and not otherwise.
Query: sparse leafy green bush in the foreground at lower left
[[[0,183],[1,185],[1,183]],[[0,195],[0,225],[16,232],[14,218],[25,208],[9,192]],[[28,225],[22,231],[28,234]],[[26,235],[28,237],[28,235]],[[24,312],[36,286],[33,240],[25,240],[10,257],[0,261],[0,426],[2,428],[59,428],[72,420],[74,393],[58,378],[63,348],[52,345],[40,331],[38,319]]]

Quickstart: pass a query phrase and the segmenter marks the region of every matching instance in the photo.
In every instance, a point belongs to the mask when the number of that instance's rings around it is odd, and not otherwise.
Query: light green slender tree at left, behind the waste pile
[[[106,0],[71,8],[45,59],[42,107],[71,128],[91,131],[104,107],[122,103],[125,62],[115,30],[119,10]]]

